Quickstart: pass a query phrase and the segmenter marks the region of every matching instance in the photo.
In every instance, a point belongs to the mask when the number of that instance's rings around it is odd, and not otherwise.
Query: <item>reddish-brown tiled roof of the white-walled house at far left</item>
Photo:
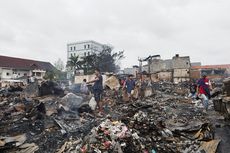
[[[35,61],[30,59],[15,58],[0,55],[0,67],[15,69],[42,69],[46,71],[54,70],[55,67],[49,62]]]

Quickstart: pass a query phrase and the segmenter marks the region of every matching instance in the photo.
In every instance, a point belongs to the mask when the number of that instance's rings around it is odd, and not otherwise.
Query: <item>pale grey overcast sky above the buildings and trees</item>
[[[66,44],[95,40],[138,57],[178,53],[227,64],[229,0],[0,0],[0,55],[66,62]]]

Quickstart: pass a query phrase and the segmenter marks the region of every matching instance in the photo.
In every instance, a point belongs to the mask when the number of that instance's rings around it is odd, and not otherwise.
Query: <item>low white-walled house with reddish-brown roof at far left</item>
[[[3,81],[26,76],[42,79],[47,71],[55,69],[49,62],[0,56],[0,80]]]

